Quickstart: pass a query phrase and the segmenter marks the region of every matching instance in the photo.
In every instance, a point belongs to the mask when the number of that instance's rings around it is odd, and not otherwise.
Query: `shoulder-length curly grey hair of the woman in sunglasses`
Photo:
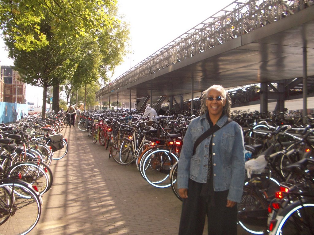
[[[206,106],[206,98],[208,96],[208,92],[212,89],[221,91],[222,97],[226,99],[226,105],[224,107],[224,111],[225,111],[225,115],[230,118],[231,98],[230,98],[229,93],[225,90],[225,88],[220,85],[210,86],[206,91],[203,91],[200,115],[203,115],[204,113],[208,112],[208,108]]]

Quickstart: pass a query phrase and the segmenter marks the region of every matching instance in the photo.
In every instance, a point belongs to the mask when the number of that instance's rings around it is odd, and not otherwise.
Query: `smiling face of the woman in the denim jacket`
[[[209,117],[220,117],[220,115],[222,114],[223,108],[226,105],[225,98],[219,100],[219,97],[223,97],[222,92],[220,90],[211,89],[208,92],[207,98],[208,97],[214,98],[212,101],[206,99],[206,106],[208,108]]]

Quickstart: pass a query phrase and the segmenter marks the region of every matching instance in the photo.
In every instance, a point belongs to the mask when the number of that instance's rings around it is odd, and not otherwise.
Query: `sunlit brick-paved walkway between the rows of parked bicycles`
[[[171,188],[149,185],[135,165],[118,165],[87,132],[62,133],[69,151],[50,165],[53,185],[29,234],[177,234],[181,201]]]

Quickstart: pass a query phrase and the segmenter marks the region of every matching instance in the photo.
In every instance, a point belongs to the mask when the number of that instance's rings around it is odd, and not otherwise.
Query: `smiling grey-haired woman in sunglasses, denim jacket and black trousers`
[[[222,86],[203,92],[201,116],[194,118],[184,137],[178,165],[178,189],[183,198],[179,235],[202,235],[205,215],[208,234],[237,234],[237,202],[245,177],[241,126],[230,122],[230,97]],[[198,137],[209,128],[220,129],[196,148]]]

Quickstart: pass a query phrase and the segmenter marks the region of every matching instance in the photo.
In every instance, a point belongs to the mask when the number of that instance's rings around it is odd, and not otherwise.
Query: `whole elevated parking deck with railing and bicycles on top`
[[[305,78],[314,74],[313,11],[312,1],[235,1],[122,74],[96,97],[131,102],[193,94],[216,83],[225,88],[264,83],[277,91],[263,96],[262,102],[282,100],[283,86],[274,89],[267,83],[297,78],[289,86],[301,84],[303,89]],[[262,91],[265,94],[267,87]]]

